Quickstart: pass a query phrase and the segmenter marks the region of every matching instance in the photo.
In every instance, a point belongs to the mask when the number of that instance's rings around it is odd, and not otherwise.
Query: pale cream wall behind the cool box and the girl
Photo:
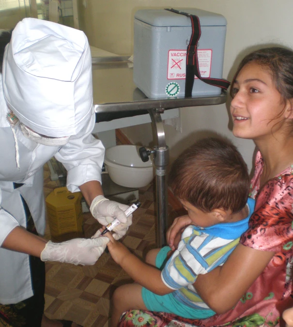
[[[251,49],[272,43],[293,47],[292,0],[87,0],[87,8],[80,6],[80,26],[91,45],[131,54],[134,13],[155,7],[196,7],[225,16],[228,26],[223,77],[230,80],[239,61]],[[231,138],[251,167],[254,144],[232,136],[227,108],[229,104],[182,109],[183,133],[171,126],[165,128],[171,159],[197,137],[215,131]],[[123,132],[136,143],[152,142],[149,124],[127,127]]]

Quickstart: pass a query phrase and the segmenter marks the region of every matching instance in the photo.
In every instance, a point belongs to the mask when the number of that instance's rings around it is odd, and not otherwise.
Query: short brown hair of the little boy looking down
[[[169,186],[180,200],[203,212],[238,212],[247,203],[247,165],[230,140],[206,138],[187,148],[172,164]]]

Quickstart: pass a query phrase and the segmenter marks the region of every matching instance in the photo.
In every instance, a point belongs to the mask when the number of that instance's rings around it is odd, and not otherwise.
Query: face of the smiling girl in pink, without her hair
[[[255,141],[278,138],[286,110],[267,69],[254,62],[246,64],[235,80],[232,93],[234,136]]]

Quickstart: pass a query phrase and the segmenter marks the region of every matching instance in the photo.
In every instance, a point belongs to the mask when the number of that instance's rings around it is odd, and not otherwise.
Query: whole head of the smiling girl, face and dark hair
[[[260,140],[277,132],[292,133],[293,51],[270,47],[248,54],[240,63],[230,89],[233,134]]]

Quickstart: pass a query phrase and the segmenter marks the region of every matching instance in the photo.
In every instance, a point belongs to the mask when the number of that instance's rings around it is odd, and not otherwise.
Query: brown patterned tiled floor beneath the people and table
[[[51,182],[45,167],[45,196],[58,182]],[[155,247],[154,186],[139,189],[141,207],[133,214],[133,224],[122,242],[139,257]],[[169,217],[178,213],[169,205]],[[85,237],[91,237],[99,228],[91,214],[84,216]],[[49,239],[49,230],[45,237]],[[108,253],[103,253],[93,266],[75,266],[54,262],[46,263],[46,305],[49,318],[74,320],[84,327],[108,327],[110,298],[119,285],[131,281]]]

